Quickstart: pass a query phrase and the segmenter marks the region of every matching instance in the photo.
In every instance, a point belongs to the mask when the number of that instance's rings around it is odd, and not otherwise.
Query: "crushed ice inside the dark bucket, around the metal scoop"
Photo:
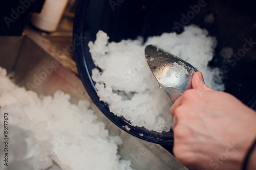
[[[109,104],[110,111],[130,120],[133,126],[157,132],[169,131],[172,103],[147,66],[144,50],[148,44],[156,45],[197,67],[205,82],[215,90],[224,90],[221,72],[209,68],[217,41],[206,30],[196,26],[185,27],[182,34],[163,33],[149,37],[108,42],[104,32],[97,33],[95,42],[89,42],[90,53],[97,67],[92,70],[97,94]]]

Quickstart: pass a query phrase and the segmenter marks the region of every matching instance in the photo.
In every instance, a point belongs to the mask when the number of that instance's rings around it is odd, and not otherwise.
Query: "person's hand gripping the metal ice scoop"
[[[174,155],[195,169],[241,169],[256,137],[256,113],[234,96],[210,89],[196,72],[193,89],[170,108]]]

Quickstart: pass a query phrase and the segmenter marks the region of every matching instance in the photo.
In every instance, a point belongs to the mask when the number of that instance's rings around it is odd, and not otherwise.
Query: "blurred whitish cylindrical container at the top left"
[[[63,11],[69,0],[46,0],[41,13],[33,13],[32,24],[46,32],[56,31]]]

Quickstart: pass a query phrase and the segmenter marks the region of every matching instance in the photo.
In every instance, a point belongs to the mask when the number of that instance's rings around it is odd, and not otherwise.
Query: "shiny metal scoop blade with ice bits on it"
[[[160,88],[173,103],[185,90],[192,88],[192,78],[198,70],[191,64],[153,45],[146,46],[145,57]]]

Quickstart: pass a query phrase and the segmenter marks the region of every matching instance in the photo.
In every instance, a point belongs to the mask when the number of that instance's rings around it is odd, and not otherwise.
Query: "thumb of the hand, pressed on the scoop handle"
[[[192,87],[193,89],[201,89],[201,90],[212,90],[210,87],[208,87],[205,83],[204,83],[204,78],[202,75],[202,72],[197,71],[195,72],[193,79],[192,79]]]

